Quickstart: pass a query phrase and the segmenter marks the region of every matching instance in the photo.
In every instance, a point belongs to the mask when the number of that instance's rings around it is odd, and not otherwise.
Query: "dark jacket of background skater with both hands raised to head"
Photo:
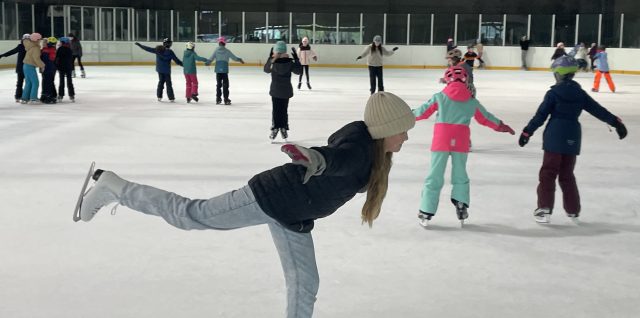
[[[300,75],[302,66],[300,61],[290,57],[281,57],[275,61],[268,59],[264,64],[264,72],[271,73],[271,87],[269,95],[275,98],[293,97],[293,86],[291,86],[291,73]]]

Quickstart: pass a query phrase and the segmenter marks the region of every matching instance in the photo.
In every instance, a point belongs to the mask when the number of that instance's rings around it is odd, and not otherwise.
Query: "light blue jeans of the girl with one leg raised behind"
[[[313,314],[320,278],[311,233],[297,233],[265,214],[249,186],[208,200],[192,200],[175,193],[128,182],[120,204],[162,217],[183,230],[229,230],[267,224],[276,245],[287,286],[287,318]]]

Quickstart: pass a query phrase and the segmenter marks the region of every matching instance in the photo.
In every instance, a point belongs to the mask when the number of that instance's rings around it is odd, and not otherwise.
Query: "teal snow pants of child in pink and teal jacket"
[[[464,152],[431,152],[431,170],[424,180],[420,211],[436,214],[440,202],[440,190],[444,185],[444,172],[447,160],[451,156],[451,198],[469,206],[469,176],[467,175],[467,156]]]

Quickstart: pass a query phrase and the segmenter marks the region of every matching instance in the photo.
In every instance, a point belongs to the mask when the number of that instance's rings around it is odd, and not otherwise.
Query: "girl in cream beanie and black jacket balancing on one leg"
[[[340,128],[327,145],[283,145],[282,152],[292,162],[253,176],[238,190],[205,200],[90,169],[86,181],[90,177],[96,181],[78,202],[74,220],[89,222],[104,206],[116,203],[161,217],[183,230],[266,224],[284,271],[286,317],[309,318],[320,281],[311,235],[315,220],[330,216],[356,194],[366,192],[361,219],[371,227],[387,194],[393,153],[401,150],[414,125],[411,109],[402,99],[386,92],[374,94],[367,101],[364,121]]]

